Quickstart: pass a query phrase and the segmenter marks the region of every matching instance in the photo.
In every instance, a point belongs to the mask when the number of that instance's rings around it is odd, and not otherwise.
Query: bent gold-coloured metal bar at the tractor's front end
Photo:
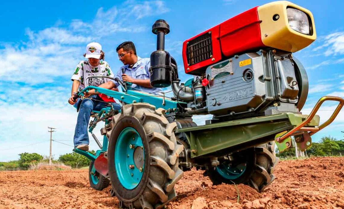
[[[328,120],[326,120],[323,124],[318,126],[318,127],[304,127],[305,125],[307,125],[313,119],[313,117],[315,116],[316,112],[318,112],[318,110],[319,110],[320,106],[322,105],[322,103],[324,103],[327,100],[339,102],[338,106],[334,110],[334,112],[331,115],[331,117]],[[331,124],[332,121],[337,117],[338,113],[341,111],[343,106],[344,106],[344,99],[341,98],[341,97],[337,97],[337,96],[323,96],[323,97],[321,97],[320,100],[313,107],[311,113],[307,116],[307,118],[304,121],[302,121],[302,123],[297,125],[295,128],[291,129],[290,131],[288,131],[284,135],[282,135],[280,137],[277,137],[276,141],[277,142],[281,142],[284,139],[286,139],[289,136],[291,136],[294,132],[299,131],[299,130],[301,130],[301,131],[309,131],[308,132],[309,135],[312,136],[314,133],[320,131],[321,129],[323,129],[326,126],[328,126],[329,124]]]

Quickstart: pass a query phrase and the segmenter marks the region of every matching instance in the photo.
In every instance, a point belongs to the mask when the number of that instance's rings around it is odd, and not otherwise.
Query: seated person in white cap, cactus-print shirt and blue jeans
[[[74,107],[77,107],[78,103],[81,102],[74,133],[74,146],[84,151],[88,151],[89,139],[87,127],[91,112],[93,110],[100,111],[100,109],[106,107],[108,104],[107,102],[111,100],[108,100],[108,98],[104,95],[101,97],[99,95],[92,95],[92,92],[94,92],[92,90],[90,91],[89,95],[86,95],[88,97],[82,101],[79,98],[74,101],[73,96],[78,90],[83,90],[85,86],[98,86],[104,89],[112,89],[115,86],[114,82],[107,78],[89,78],[87,81],[85,81],[85,78],[88,76],[114,77],[109,64],[104,61],[104,56],[105,54],[101,50],[100,44],[95,42],[89,43],[86,46],[86,53],[84,54],[84,57],[88,60],[79,62],[71,78],[73,81],[72,95],[69,98],[68,103],[74,105]],[[120,105],[116,104],[115,101],[113,101],[111,104],[114,109],[120,109]]]

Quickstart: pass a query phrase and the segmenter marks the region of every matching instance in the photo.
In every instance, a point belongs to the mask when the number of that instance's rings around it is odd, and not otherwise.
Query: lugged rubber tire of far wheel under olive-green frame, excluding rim
[[[213,185],[226,184],[247,184],[257,191],[263,191],[273,180],[273,171],[278,164],[279,158],[276,157],[275,142],[268,142],[260,146],[244,150],[247,156],[247,167],[243,175],[231,181],[222,177],[216,170],[208,170],[204,173],[209,176]]]

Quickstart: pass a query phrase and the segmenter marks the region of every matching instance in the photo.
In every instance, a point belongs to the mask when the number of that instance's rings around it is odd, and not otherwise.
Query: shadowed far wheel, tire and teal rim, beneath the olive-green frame
[[[240,151],[235,153],[236,163],[220,161],[219,166],[205,171],[204,175],[209,176],[213,185],[246,184],[261,192],[275,180],[273,171],[279,158],[274,149],[275,142],[268,142]]]

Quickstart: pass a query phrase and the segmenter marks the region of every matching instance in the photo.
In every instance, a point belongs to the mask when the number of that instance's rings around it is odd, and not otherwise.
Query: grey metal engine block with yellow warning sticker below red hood
[[[215,116],[298,112],[299,81],[290,53],[276,50],[235,56],[206,69],[208,112]]]

